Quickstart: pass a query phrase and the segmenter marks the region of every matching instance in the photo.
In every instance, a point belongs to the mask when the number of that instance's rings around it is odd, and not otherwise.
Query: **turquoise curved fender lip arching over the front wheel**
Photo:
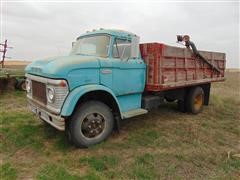
[[[70,92],[70,94],[67,96],[67,99],[65,100],[65,102],[63,104],[61,115],[62,116],[70,116],[73,113],[78,100],[84,94],[91,92],[91,91],[99,91],[99,90],[106,91],[112,95],[112,97],[115,99],[115,101],[118,105],[118,108],[120,110],[120,113],[121,113],[121,107],[119,105],[119,102],[111,89],[109,89],[105,86],[102,86],[102,85],[98,85],[98,84],[89,84],[89,85],[79,86]]]

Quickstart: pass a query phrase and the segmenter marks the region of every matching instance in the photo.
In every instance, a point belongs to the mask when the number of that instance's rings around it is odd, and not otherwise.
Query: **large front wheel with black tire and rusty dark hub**
[[[89,101],[75,111],[68,132],[77,147],[89,147],[105,140],[113,130],[111,109],[102,102]]]

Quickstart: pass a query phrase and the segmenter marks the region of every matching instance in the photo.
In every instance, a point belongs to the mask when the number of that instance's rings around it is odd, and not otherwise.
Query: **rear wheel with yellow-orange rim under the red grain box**
[[[187,111],[193,114],[198,114],[202,111],[204,104],[204,91],[198,86],[192,88],[187,96],[186,108]]]

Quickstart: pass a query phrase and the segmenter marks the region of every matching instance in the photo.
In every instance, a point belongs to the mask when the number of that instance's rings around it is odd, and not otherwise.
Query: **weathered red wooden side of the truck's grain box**
[[[161,91],[198,83],[224,80],[224,53],[199,51],[211,64],[220,69],[214,71],[191,49],[168,46],[162,43],[140,45],[142,58],[147,64],[147,91]]]

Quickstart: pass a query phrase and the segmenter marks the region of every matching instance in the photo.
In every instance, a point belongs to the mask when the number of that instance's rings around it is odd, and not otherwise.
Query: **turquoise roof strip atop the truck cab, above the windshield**
[[[92,31],[87,31],[86,33],[82,34],[79,36],[77,39],[83,36],[88,36],[88,35],[95,35],[95,34],[109,34],[112,36],[117,36],[117,37],[132,37],[132,36],[137,36],[136,34],[133,34],[128,31],[124,30],[119,30],[119,29],[98,29],[98,30],[92,30]]]

